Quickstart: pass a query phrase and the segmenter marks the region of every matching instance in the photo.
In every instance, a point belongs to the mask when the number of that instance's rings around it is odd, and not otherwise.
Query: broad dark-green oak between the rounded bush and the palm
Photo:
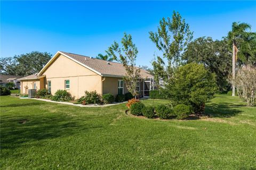
[[[227,39],[213,41],[211,37],[199,37],[188,44],[182,59],[186,63],[203,64],[216,74],[219,91],[226,92],[230,89],[228,76],[231,73],[231,55]]]

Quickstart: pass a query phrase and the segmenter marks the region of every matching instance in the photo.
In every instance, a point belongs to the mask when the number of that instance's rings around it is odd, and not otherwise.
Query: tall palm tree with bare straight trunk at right
[[[233,22],[232,24],[232,30],[228,32],[228,39],[230,44],[233,46],[233,55],[232,55],[232,78],[233,78],[233,84],[232,84],[232,96],[235,96],[235,65],[236,65],[236,56],[238,52],[238,46],[243,43],[245,40],[245,37],[247,37],[248,32],[246,32],[247,29],[251,29],[251,26],[247,23],[239,23],[239,22]]]

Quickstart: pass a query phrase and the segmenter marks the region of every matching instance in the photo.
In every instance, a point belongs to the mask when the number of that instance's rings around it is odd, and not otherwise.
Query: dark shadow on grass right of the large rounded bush
[[[210,117],[231,117],[242,113],[242,111],[237,109],[242,106],[244,105],[234,105],[230,103],[209,104],[205,107],[205,114]]]

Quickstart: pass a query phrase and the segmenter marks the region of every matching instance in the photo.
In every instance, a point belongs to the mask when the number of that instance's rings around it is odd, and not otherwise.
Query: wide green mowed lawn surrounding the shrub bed
[[[218,95],[201,120],[149,120],[125,109],[1,97],[0,168],[256,168],[256,108],[237,97]]]

